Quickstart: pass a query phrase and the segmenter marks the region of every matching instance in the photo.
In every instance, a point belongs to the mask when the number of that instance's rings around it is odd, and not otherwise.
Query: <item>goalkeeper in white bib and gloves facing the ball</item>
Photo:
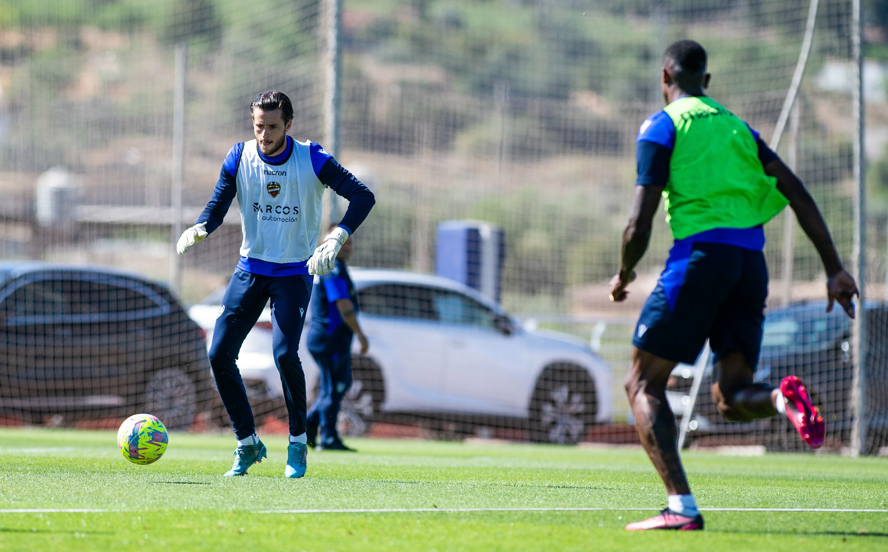
[[[376,200],[367,186],[313,142],[287,136],[293,106],[286,94],[267,91],[250,104],[255,139],[235,144],[222,163],[216,189],[197,222],[178,240],[177,251],[202,241],[222,224],[237,197],[241,209],[241,260],[219,308],[210,366],[234,427],[234,466],[243,476],[266,458],[236,360],[241,344],[271,300],[274,361],[289,412],[285,477],[305,475],[305,373],[299,337],[312,293],[310,275],[333,269],[337,252],[358,229]],[[349,201],[342,223],[320,247],[321,196],[325,187]]]

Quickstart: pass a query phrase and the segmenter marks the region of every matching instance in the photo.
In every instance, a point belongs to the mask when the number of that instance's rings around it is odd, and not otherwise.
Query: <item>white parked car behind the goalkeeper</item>
[[[355,340],[354,382],[339,420],[346,434],[363,433],[374,415],[420,414],[511,424],[527,428],[535,441],[575,443],[591,424],[611,420],[611,369],[582,340],[520,327],[500,305],[453,280],[379,269],[350,273],[370,350],[361,355]],[[207,343],[223,292],[189,311]],[[312,397],[318,368],[305,339],[299,358]],[[238,367],[251,394],[282,396],[267,308]]]

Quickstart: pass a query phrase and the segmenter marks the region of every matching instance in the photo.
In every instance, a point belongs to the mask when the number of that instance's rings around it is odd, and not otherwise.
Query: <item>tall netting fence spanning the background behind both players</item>
[[[186,256],[177,259],[172,243],[209,199],[228,149],[252,138],[250,100],[278,89],[296,107],[291,136],[335,140],[337,159],[377,196],[354,237],[371,346],[354,357],[343,430],[637,441],[622,378],[635,319],[670,247],[662,216],[626,303],[608,301],[607,280],[628,217],[638,126],[662,108],[662,51],[679,38],[700,41],[710,95],[767,139],[809,2],[346,0],[332,137],[324,117],[336,5],[0,2],[4,420],[110,426],[144,407],[171,427],[226,426],[205,341],[239,256],[236,202]],[[821,1],[778,151],[818,201],[849,267],[852,35],[852,2]],[[177,44],[186,55],[177,58]],[[866,140],[871,453],[888,445],[888,105],[877,69],[867,82]],[[334,198],[326,209],[335,218],[345,203]],[[787,220],[765,227],[772,280],[756,378],[796,373],[808,382],[828,420],[825,449],[838,450],[851,443],[851,326],[822,312],[820,260]],[[317,368],[307,351],[300,356],[312,396]],[[267,312],[238,364],[258,422],[282,427]],[[800,450],[784,419],[721,421],[708,397],[711,368],[704,372],[690,446]],[[695,373],[676,369],[676,412],[691,400]]]

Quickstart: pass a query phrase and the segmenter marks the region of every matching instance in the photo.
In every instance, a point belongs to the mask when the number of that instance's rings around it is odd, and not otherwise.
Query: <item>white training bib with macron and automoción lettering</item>
[[[272,263],[312,256],[321,234],[324,185],[314,174],[309,144],[293,140],[287,161],[273,165],[259,157],[255,139],[243,143],[237,166],[241,256]]]

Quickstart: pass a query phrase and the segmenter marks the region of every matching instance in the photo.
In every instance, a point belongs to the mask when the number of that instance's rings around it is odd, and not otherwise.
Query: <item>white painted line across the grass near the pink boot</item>
[[[266,509],[254,514],[398,514],[420,512],[622,512],[658,511],[659,508],[347,508],[347,509]],[[828,512],[886,514],[888,509],[866,508],[701,508],[703,512]],[[136,512],[140,509],[96,508],[12,508],[0,509],[0,514],[97,514],[104,512]]]

